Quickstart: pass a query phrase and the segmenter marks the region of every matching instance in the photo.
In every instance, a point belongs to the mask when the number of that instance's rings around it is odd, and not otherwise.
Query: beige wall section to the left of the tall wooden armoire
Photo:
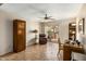
[[[0,55],[13,51],[12,21],[5,12],[0,11]]]

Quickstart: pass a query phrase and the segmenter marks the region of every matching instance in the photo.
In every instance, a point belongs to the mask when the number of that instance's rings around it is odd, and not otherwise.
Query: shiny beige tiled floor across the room
[[[2,61],[58,61],[58,43],[35,44],[19,53],[0,56]],[[61,55],[62,56],[62,55]]]

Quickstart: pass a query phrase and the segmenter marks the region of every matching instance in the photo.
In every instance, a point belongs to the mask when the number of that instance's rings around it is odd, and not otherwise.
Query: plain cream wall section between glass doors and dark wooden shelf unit
[[[62,43],[64,42],[65,39],[69,39],[69,23],[67,22],[62,22],[59,25],[59,37]]]

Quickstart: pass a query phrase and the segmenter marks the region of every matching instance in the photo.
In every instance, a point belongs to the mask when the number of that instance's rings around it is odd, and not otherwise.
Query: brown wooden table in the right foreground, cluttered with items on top
[[[63,43],[63,61],[71,61],[72,52],[84,53],[84,46],[81,43]]]

